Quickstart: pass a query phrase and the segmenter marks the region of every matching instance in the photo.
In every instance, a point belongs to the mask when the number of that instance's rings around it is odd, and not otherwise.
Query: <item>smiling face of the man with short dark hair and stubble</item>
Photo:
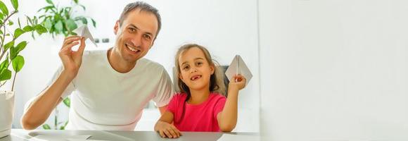
[[[115,53],[124,61],[135,63],[145,56],[153,46],[158,21],[153,13],[135,9],[127,13],[122,25],[116,22],[114,31],[116,35]]]

